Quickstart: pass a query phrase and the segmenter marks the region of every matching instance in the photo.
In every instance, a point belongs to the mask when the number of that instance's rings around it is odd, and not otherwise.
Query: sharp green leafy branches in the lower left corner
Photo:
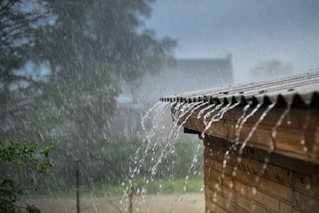
[[[0,162],[2,166],[3,164],[16,165],[19,171],[28,167],[34,172],[44,175],[46,170],[52,166],[49,160],[49,152],[52,149],[54,149],[52,145],[38,149],[37,144],[26,141],[23,142],[23,145],[12,142],[5,145],[0,140]],[[32,184],[22,188],[16,184],[16,180],[12,179],[10,175],[1,175],[0,179],[0,212],[14,213],[20,212],[20,209],[25,209],[26,212],[30,213],[40,212],[36,207],[28,204],[26,207],[15,205],[25,191],[37,191],[39,189],[38,185]]]

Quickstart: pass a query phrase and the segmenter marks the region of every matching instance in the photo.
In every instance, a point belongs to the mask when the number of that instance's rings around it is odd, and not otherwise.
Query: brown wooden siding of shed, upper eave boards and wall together
[[[179,120],[185,132],[201,135],[205,129],[203,116],[197,118],[201,109],[186,113],[186,121]],[[207,122],[221,119],[207,129],[203,139],[206,212],[319,212],[319,110],[291,109],[272,139],[273,127],[286,109],[271,109],[238,161],[241,144],[265,112],[260,108],[245,121],[237,150],[224,162],[225,153],[236,142],[235,126],[243,108],[235,107],[223,116],[221,109],[207,117]],[[250,107],[246,115],[253,109]]]

